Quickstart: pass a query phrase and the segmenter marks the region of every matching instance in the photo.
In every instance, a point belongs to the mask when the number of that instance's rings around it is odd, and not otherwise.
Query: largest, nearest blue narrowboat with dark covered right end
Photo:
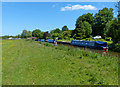
[[[96,48],[96,49],[102,49],[103,47],[108,47],[107,42],[102,42],[102,41],[72,40],[71,45]]]

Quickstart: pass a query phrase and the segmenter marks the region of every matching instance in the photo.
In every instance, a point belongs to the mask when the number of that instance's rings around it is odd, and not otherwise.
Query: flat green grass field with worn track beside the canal
[[[118,58],[35,41],[3,40],[3,85],[118,85]]]

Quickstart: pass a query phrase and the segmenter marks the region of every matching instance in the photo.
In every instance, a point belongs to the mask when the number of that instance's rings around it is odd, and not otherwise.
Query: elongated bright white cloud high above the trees
[[[83,9],[83,10],[97,10],[96,7],[92,6],[92,5],[73,5],[73,6],[65,6],[61,8],[61,11],[70,11],[70,10],[79,10],[79,9]]]

